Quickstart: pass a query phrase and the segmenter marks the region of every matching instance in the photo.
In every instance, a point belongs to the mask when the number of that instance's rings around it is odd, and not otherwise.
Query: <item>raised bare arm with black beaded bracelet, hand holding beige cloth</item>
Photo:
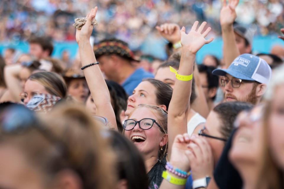
[[[90,36],[93,31],[91,21],[95,18],[98,7],[95,7],[87,15],[87,21],[81,30],[76,30],[76,41],[79,45],[79,53],[82,66],[96,62],[96,57],[90,43]],[[97,115],[106,117],[112,127],[117,130],[114,110],[110,101],[109,90],[101,73],[98,64],[90,66],[83,70],[91,91],[94,103],[97,107]]]

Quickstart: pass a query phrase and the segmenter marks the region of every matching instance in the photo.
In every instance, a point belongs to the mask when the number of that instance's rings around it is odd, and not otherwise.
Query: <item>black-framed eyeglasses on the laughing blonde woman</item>
[[[130,131],[136,126],[137,123],[139,125],[139,128],[143,130],[148,130],[152,128],[154,123],[156,123],[156,125],[162,130],[162,132],[164,132],[163,128],[159,125],[159,123],[156,122],[156,120],[151,119],[151,118],[144,118],[144,119],[141,119],[140,121],[136,121],[134,119],[127,119],[123,123],[123,128],[125,131]]]

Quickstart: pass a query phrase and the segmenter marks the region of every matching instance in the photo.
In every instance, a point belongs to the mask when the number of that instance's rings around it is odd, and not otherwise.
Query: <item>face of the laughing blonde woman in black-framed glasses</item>
[[[139,121],[144,118],[151,118],[159,123],[159,120],[155,113],[148,107],[139,107],[130,116],[129,119],[134,119]],[[159,123],[161,125],[161,123]],[[126,138],[130,139],[138,150],[144,155],[144,157],[158,156],[160,146],[167,144],[167,137],[159,126],[154,123],[154,125],[148,129],[143,130],[137,125],[130,131],[125,131]]]

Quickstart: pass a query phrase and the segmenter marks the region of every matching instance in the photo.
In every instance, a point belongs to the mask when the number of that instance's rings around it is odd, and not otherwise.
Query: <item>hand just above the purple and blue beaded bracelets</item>
[[[183,171],[188,172],[190,170],[190,161],[185,154],[188,150],[188,143],[190,142],[190,136],[185,133],[183,135],[177,135],[172,145],[172,152],[170,157],[170,163]]]

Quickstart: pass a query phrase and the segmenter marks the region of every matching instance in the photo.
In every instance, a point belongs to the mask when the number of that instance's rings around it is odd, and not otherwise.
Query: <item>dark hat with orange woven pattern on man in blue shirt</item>
[[[100,41],[97,44],[94,44],[93,47],[96,58],[99,58],[102,55],[117,54],[126,59],[133,61],[140,61],[138,57],[130,50],[128,43],[118,40],[118,39],[105,39]]]

